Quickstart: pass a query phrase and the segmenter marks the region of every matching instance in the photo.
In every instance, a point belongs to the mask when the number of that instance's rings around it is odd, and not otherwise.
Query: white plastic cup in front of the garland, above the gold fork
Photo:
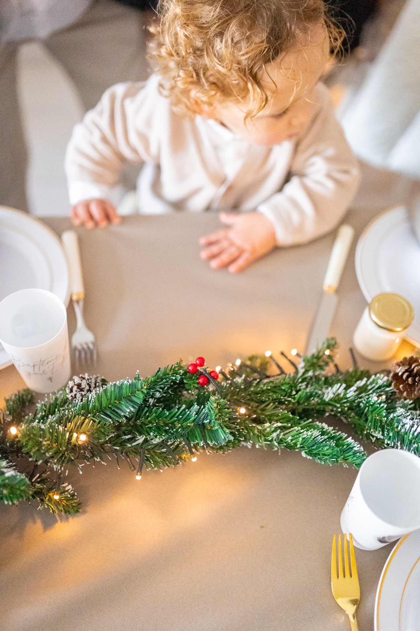
[[[377,550],[420,528],[420,458],[383,449],[362,464],[340,519],[361,550]]]

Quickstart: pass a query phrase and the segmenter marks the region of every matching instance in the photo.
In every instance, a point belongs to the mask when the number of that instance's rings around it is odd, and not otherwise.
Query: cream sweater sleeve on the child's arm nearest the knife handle
[[[359,170],[327,89],[317,86],[321,107],[298,141],[288,181],[258,206],[276,232],[278,245],[306,243],[334,228],[351,203]]]

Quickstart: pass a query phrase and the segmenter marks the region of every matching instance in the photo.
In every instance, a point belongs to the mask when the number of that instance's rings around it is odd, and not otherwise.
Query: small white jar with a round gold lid
[[[398,293],[378,293],[363,312],[353,342],[367,359],[377,362],[390,359],[413,319],[414,310],[406,298]]]

